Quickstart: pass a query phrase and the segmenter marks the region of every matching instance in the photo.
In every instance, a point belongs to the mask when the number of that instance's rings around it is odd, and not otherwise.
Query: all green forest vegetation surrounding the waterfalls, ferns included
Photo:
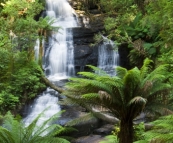
[[[94,110],[96,106],[103,107],[118,120],[105,142],[172,143],[173,1],[75,1],[80,3],[77,9],[84,10],[91,19],[93,14],[89,9],[94,7],[100,12],[104,29],[96,33],[94,44],[102,41],[102,34],[120,48],[125,46],[129,51],[130,67],[117,67],[116,76],[111,77],[90,65],[89,68],[96,72],[80,72],[80,78],[71,78],[66,90],[54,87],[44,78],[42,44],[38,61],[34,56],[36,40],[46,40],[53,30],[60,28],[53,27],[54,21],[49,17],[41,17],[45,1],[0,0],[0,142],[69,142],[68,137],[61,137],[61,132],[73,130],[71,128],[52,125],[47,128],[51,130],[49,134],[43,136],[43,126],[49,122],[46,121],[33,135],[41,115],[28,127],[18,117],[23,105],[49,84],[66,96],[64,104],[78,104],[92,116],[109,121],[105,112]],[[148,131],[143,123],[133,124],[141,112],[151,121]]]

